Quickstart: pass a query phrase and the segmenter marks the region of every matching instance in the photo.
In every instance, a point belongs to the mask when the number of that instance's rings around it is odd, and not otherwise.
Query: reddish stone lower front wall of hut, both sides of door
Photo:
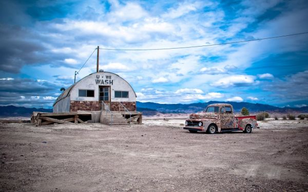
[[[136,102],[122,102],[128,111],[136,111]],[[70,101],[70,111],[101,111],[99,101]],[[111,102],[111,111],[124,111],[123,106],[119,102]]]

